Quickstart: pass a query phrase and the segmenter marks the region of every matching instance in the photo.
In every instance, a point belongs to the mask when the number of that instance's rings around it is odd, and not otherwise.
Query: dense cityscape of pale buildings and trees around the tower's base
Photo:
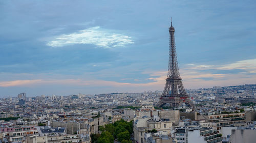
[[[187,93],[195,110],[185,105],[156,107],[160,91],[36,97],[20,93],[1,98],[1,137],[5,142],[31,143],[234,142],[254,138],[256,84]]]

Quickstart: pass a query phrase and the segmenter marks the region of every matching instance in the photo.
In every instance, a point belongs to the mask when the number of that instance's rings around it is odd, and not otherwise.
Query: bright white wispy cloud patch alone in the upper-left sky
[[[77,33],[63,34],[47,43],[51,47],[62,47],[73,44],[93,44],[102,48],[123,47],[133,44],[132,37],[113,33],[99,26],[87,28]]]

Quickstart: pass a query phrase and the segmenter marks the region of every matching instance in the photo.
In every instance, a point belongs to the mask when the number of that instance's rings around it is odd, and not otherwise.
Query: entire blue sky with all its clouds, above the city
[[[1,1],[0,96],[163,90],[170,17],[186,89],[256,81],[255,1]]]

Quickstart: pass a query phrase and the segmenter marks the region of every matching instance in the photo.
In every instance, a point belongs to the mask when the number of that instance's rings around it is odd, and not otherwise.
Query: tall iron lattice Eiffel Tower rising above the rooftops
[[[180,72],[177,62],[176,46],[175,46],[175,29],[171,18],[171,25],[169,27],[170,41],[169,41],[169,66],[163,94],[157,103],[158,107],[169,103],[171,107],[178,107],[185,103],[194,108],[191,100],[186,94],[185,88],[181,82]]]

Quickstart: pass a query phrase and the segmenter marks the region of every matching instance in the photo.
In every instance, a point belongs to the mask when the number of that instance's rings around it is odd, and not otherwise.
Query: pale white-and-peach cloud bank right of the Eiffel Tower
[[[209,88],[214,85],[228,86],[245,83],[255,83],[256,59],[233,62],[226,65],[197,65],[186,64],[188,67],[181,69],[185,88]],[[223,70],[237,70],[239,73],[225,73]],[[211,73],[215,71],[214,73]],[[219,73],[218,73],[219,72]],[[208,80],[205,80],[207,79]]]

